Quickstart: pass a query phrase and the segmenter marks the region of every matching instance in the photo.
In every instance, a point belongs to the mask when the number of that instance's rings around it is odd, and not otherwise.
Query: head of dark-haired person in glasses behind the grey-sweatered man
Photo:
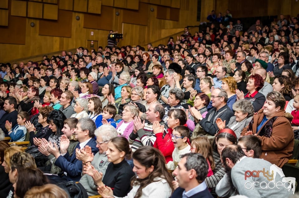
[[[259,158],[262,154],[262,141],[256,135],[241,136],[238,145],[247,157]]]

